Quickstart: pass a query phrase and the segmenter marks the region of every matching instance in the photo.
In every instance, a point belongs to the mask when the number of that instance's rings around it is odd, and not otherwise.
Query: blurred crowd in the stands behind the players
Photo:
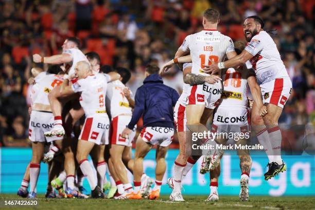
[[[29,144],[27,80],[35,65],[32,54],[61,53],[64,39],[76,36],[82,51],[96,51],[101,64],[131,69],[127,85],[135,93],[148,63],[161,66],[188,34],[202,29],[206,8],[220,11],[218,29],[234,41],[245,42],[245,17],[263,18],[293,82],[280,122],[315,125],[314,5],[313,0],[2,0],[0,144]],[[179,69],[171,69],[163,79],[181,93]]]

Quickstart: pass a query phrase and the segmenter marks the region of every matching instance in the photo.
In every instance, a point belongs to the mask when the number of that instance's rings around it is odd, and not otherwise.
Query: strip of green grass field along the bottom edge
[[[0,209],[315,209],[314,197],[250,197],[248,202],[239,202],[237,196],[221,196],[218,202],[205,202],[205,196],[184,196],[186,202],[160,200],[112,200],[112,199],[45,199],[40,195],[38,206],[4,206],[4,200],[18,199],[16,195],[0,194]]]

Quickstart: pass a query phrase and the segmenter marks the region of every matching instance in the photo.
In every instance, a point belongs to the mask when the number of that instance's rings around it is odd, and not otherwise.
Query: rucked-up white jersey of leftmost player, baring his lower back
[[[48,93],[56,86],[59,86],[63,82],[63,78],[46,72],[40,73],[40,79],[32,87],[31,100],[32,104],[41,103],[49,105]]]

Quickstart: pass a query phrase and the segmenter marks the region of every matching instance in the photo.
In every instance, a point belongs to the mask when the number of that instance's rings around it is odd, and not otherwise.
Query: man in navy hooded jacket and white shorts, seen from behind
[[[127,137],[139,118],[143,116],[144,128],[137,138],[134,156],[133,179],[134,191],[128,194],[129,199],[141,199],[148,192],[140,192],[141,176],[143,174],[143,159],[153,145],[156,147],[155,185],[149,199],[158,199],[163,176],[166,170],[165,155],[174,134],[173,107],[179,94],[176,90],[163,84],[159,75],[159,67],[148,65],[146,79],[135,94],[135,107],[127,128],[122,131],[122,137]]]

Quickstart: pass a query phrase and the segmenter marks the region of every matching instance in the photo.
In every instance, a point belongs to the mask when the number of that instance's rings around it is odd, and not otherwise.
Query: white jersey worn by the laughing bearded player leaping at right
[[[289,78],[277,46],[266,31],[258,32],[245,50],[254,56],[250,62],[255,69],[258,84],[277,78]]]

